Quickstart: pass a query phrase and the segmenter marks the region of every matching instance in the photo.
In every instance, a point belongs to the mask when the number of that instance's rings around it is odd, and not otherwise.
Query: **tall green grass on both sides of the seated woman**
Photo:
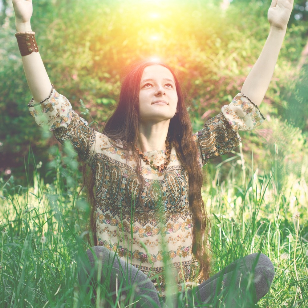
[[[121,301],[120,290],[113,300],[106,281],[97,288],[101,299],[96,302],[91,302],[92,288],[85,290],[78,284],[78,264],[89,248],[84,232],[89,207],[83,197],[76,198],[80,176],[75,155],[64,152],[67,156],[56,153],[49,167],[51,184],[45,184],[36,169],[33,175],[27,174],[26,187],[17,185],[13,177],[6,182],[2,179],[0,307],[129,304]],[[245,164],[241,148],[234,154],[229,161],[209,167],[210,180],[203,192],[212,222],[212,274],[241,256],[260,251],[270,257],[276,274],[270,292],[257,305],[308,306],[305,176],[278,178],[275,158],[261,171]],[[30,155],[26,170],[28,164]],[[228,170],[223,180],[221,170]]]

